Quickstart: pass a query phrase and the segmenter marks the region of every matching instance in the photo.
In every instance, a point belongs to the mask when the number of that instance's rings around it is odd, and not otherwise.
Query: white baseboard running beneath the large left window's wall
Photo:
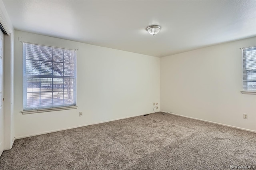
[[[58,130],[49,130],[49,131],[40,132],[40,133],[36,133],[36,134],[18,136],[18,137],[15,137],[14,140],[15,140],[15,139],[21,139],[21,138],[27,138],[27,137],[31,137],[31,136],[37,136],[37,135],[40,135],[40,134],[58,132],[58,131],[62,131],[62,130],[68,130],[68,129],[72,129],[72,128],[85,127],[85,126],[89,126],[89,125],[96,125],[96,124],[99,124],[99,123],[117,121],[117,120],[120,120],[120,119],[126,119],[126,118],[136,117],[136,116],[142,116],[142,115],[146,115],[146,114],[151,114],[151,113],[143,113],[143,114],[140,114],[140,115],[134,115],[134,116],[128,116],[128,117],[117,118],[117,119],[111,119],[111,120],[108,120],[108,121],[101,121],[101,122],[89,123],[89,124],[85,124],[85,125],[78,125],[78,126],[75,126],[75,127],[61,128],[61,129],[58,129]],[[14,140],[13,140],[13,142],[14,142]]]

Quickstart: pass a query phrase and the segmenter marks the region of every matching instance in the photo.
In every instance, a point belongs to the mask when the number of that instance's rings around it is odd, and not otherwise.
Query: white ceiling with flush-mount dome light
[[[156,57],[256,36],[255,0],[3,2],[15,30]]]

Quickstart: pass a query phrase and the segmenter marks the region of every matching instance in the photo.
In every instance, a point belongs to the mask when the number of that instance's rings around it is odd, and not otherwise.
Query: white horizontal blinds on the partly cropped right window
[[[243,90],[256,91],[256,47],[243,48]]]

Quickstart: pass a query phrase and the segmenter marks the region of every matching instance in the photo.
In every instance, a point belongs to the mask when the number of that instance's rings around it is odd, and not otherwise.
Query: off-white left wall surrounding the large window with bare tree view
[[[78,109],[22,115],[22,43],[77,49]],[[153,112],[159,102],[158,57],[15,31],[15,137]],[[79,117],[79,111],[83,116]]]

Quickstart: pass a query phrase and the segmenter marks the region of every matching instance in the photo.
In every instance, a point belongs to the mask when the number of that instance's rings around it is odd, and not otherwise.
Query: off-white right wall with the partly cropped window
[[[240,92],[240,48],[252,45],[256,37],[160,58],[161,111],[256,130],[256,95]]]

